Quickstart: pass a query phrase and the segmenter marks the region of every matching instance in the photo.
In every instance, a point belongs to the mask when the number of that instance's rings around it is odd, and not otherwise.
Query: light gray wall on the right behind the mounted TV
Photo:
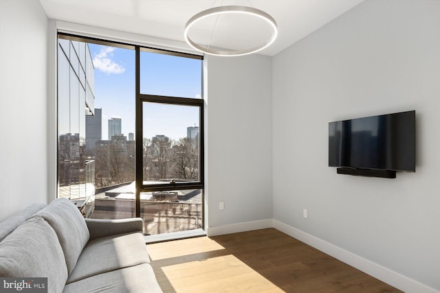
[[[272,104],[274,219],[437,290],[439,15],[440,1],[364,1],[274,57]],[[329,121],[404,110],[415,173],[327,167]]]

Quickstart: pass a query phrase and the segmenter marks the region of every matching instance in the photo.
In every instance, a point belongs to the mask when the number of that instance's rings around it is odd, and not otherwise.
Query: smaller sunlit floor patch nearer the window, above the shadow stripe
[[[152,261],[183,257],[197,253],[208,253],[214,250],[225,249],[223,246],[208,237],[197,237],[177,241],[148,244],[148,254]]]

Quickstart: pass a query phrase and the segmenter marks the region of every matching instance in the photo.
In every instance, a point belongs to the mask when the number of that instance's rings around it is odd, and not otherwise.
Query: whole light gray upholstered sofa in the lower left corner
[[[48,292],[162,292],[142,219],[84,219],[66,198],[0,223],[0,277],[47,277]]]

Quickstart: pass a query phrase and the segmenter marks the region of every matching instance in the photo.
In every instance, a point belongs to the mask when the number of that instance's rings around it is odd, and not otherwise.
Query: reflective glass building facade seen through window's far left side
[[[87,43],[58,37],[58,196],[72,200],[94,194],[85,174],[86,117],[94,115],[94,65]]]

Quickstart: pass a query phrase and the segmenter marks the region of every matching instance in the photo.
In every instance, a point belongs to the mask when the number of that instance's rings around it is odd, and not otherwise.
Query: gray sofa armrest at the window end
[[[89,228],[90,240],[123,233],[142,233],[143,231],[142,218],[128,218],[118,220],[86,218],[85,222],[87,224],[87,228]]]

